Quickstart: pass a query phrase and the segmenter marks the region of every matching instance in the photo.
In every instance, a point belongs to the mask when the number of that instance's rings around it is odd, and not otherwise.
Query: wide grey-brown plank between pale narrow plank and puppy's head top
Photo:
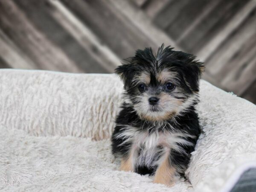
[[[61,0],[120,58],[154,43],[108,1]]]

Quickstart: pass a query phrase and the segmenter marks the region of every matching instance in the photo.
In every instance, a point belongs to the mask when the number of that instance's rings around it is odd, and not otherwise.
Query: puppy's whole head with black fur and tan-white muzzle
[[[137,50],[128,64],[116,68],[124,81],[125,102],[141,119],[161,121],[188,111],[198,100],[202,63],[194,56],[163,45],[154,56],[150,48]]]

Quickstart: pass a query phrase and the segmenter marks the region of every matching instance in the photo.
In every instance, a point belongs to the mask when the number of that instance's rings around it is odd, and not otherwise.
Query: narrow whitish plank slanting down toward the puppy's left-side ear
[[[120,59],[108,47],[101,44],[99,39],[78,20],[60,1],[49,0],[55,8],[52,16],[64,27],[107,72],[113,73],[120,64]],[[96,64],[96,63],[95,63]],[[95,65],[93,64],[93,65]],[[93,66],[90,66],[93,68]],[[93,69],[94,70],[94,69]],[[94,70],[99,72],[99,70]]]

